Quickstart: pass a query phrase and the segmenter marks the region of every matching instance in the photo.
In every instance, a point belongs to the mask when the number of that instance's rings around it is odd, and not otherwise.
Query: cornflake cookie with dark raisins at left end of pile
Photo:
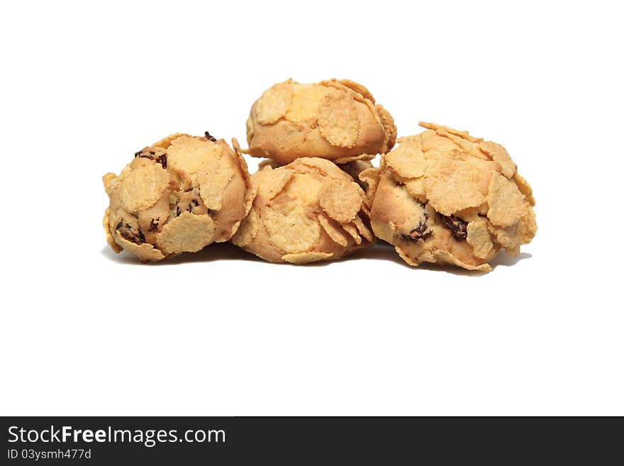
[[[229,240],[251,207],[247,165],[235,139],[174,134],[104,175],[106,240],[142,261]]]

